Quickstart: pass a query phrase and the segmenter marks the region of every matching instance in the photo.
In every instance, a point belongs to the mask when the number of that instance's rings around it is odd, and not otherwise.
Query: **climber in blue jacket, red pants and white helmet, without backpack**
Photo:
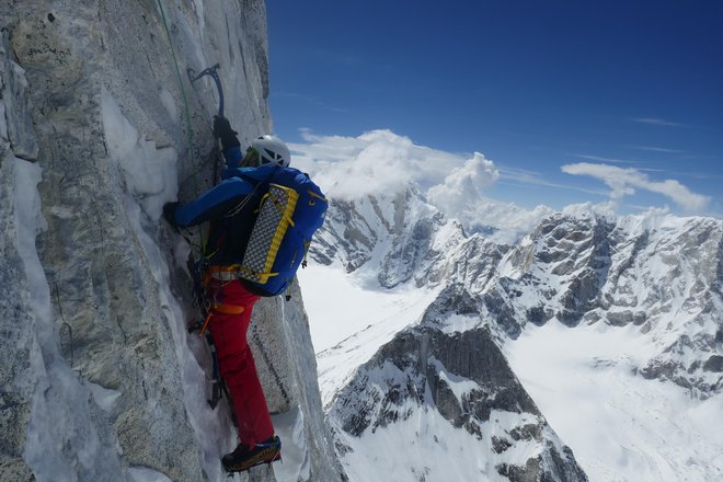
[[[246,341],[254,303],[260,295],[268,295],[240,279],[231,266],[239,266],[249,243],[260,203],[268,191],[268,179],[283,170],[279,168],[288,168],[290,158],[286,145],[268,135],[254,139],[242,154],[237,134],[226,117],[215,116],[214,135],[221,140],[227,162],[222,181],[188,204],[169,203],[163,207],[164,218],[176,228],[210,221],[200,275],[209,307],[208,329],[240,439],[236,450],[221,459],[228,472],[280,459],[282,443],[274,433]]]

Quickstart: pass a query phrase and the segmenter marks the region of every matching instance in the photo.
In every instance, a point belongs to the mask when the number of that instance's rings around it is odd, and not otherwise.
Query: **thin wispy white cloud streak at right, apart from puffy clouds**
[[[573,175],[589,175],[602,181],[612,191],[610,198],[620,200],[635,194],[635,190],[645,190],[662,194],[684,209],[696,211],[703,209],[711,200],[709,196],[696,194],[675,180],[653,181],[647,174],[632,168],[618,168],[608,164],[581,162],[563,165],[562,171]]]

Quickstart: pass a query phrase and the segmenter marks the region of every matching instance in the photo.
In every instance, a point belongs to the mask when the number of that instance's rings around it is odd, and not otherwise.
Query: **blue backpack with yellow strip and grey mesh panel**
[[[256,220],[238,276],[252,292],[284,292],[299,265],[306,265],[311,237],[324,222],[329,202],[307,174],[278,168],[265,181]]]

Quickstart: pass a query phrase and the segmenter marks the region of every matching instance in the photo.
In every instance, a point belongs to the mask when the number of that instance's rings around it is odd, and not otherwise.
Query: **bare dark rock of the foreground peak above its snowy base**
[[[460,383],[466,388],[461,389]],[[374,445],[375,433],[418,416],[420,411],[436,411],[451,426],[478,440],[489,440],[494,454],[504,455],[518,443],[537,444],[540,451],[530,454],[525,467],[498,468],[510,480],[587,480],[570,449],[562,454],[558,450],[556,436],[512,372],[486,326],[455,333],[417,326],[399,333],[359,367],[338,393],[329,416],[348,436],[371,437],[367,444]],[[495,423],[493,414],[500,413],[519,414],[527,422],[504,427],[508,438],[492,436],[489,429]],[[437,439],[436,434],[425,436],[433,435]],[[338,433],[336,437],[343,438]],[[351,438],[345,440],[341,446],[348,447],[349,440],[354,444]],[[355,457],[365,447],[354,449]],[[340,455],[348,452],[345,449]],[[417,473],[428,468],[410,470]]]

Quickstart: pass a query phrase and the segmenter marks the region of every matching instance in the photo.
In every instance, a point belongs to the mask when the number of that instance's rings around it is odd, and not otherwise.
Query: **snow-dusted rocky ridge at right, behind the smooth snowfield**
[[[723,223],[708,218],[550,218],[503,260],[485,296],[520,326],[639,325],[655,346],[641,375],[705,398],[723,388],[722,240]]]

